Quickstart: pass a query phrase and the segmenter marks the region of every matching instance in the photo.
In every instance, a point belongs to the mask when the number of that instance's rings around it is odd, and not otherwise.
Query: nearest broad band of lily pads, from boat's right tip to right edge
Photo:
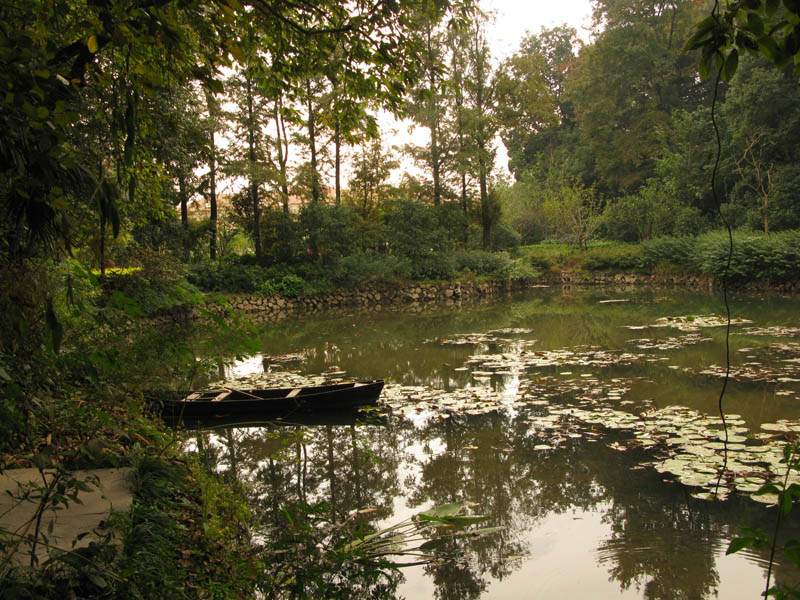
[[[627,385],[620,385],[621,383]],[[722,419],[704,415],[684,406],[656,409],[638,407],[622,410],[624,395],[632,381],[617,380],[617,385],[602,385],[596,380],[540,378],[520,386],[512,399],[488,388],[467,388],[446,392],[423,387],[388,386],[386,404],[397,415],[418,423],[448,418],[455,414],[484,414],[499,409],[515,409],[529,434],[537,439],[536,451],[558,448],[569,439],[592,441],[603,431],[621,431],[629,438],[608,444],[625,452],[646,450],[644,466],[670,476],[691,488],[701,499],[724,500],[731,493],[746,494],[758,502],[772,503],[769,495],[752,496],[762,485],[775,480],[785,470],[783,446],[800,435],[800,422],[783,420],[767,423],[768,433],[752,433],[739,415],[727,415],[728,439]],[[581,385],[583,384],[583,385]],[[579,392],[569,398],[570,392]],[[723,467],[727,447],[728,460]],[[717,488],[717,482],[720,483]],[[800,475],[790,483],[800,484]]]

